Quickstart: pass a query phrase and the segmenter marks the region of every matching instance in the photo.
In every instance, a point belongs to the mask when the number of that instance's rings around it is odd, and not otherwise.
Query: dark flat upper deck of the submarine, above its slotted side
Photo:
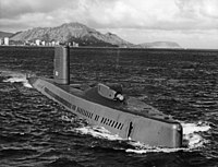
[[[118,100],[112,100],[112,99],[108,99],[100,96],[97,92],[97,87],[90,87],[85,91],[82,91],[78,88],[80,86],[73,86],[73,84],[60,85],[60,84],[55,83],[52,80],[46,79],[46,81],[48,81],[49,83],[52,83],[53,85],[60,87],[61,90],[63,90],[64,92],[69,94],[72,94],[77,97],[82,97],[83,99],[86,99],[86,100],[89,100],[89,102],[93,102],[93,103],[96,103],[96,104],[99,104],[112,109],[117,109],[123,112],[129,112],[129,114],[142,116],[142,117],[146,117],[150,119],[156,119],[156,120],[168,122],[168,123],[177,122],[168,115],[160,112],[154,107],[141,100],[137,100],[134,97],[126,96],[124,102],[118,102]]]

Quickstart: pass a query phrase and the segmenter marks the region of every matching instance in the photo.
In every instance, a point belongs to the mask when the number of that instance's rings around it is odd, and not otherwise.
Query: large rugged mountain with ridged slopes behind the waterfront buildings
[[[11,40],[45,40],[60,43],[78,43],[80,46],[119,46],[129,47],[131,43],[123,40],[116,34],[100,32],[87,27],[81,23],[68,23],[57,27],[36,27],[17,33],[10,38]]]

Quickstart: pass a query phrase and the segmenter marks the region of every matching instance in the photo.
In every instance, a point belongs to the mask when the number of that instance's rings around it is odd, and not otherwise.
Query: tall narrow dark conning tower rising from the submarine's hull
[[[70,84],[70,47],[60,46],[55,48],[53,77],[58,84]]]

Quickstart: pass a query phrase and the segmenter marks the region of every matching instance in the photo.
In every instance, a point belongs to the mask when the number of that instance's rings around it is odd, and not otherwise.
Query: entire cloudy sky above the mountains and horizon
[[[133,43],[218,49],[218,0],[0,0],[0,31],[78,22]]]

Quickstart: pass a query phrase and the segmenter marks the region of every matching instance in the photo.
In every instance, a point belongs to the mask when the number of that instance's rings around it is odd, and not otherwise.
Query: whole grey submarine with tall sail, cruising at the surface
[[[73,56],[73,55],[72,55]],[[29,84],[66,110],[111,134],[148,146],[182,146],[182,126],[158,109],[128,96],[120,84],[81,87],[70,83],[70,47],[55,47],[53,77],[28,76]]]

